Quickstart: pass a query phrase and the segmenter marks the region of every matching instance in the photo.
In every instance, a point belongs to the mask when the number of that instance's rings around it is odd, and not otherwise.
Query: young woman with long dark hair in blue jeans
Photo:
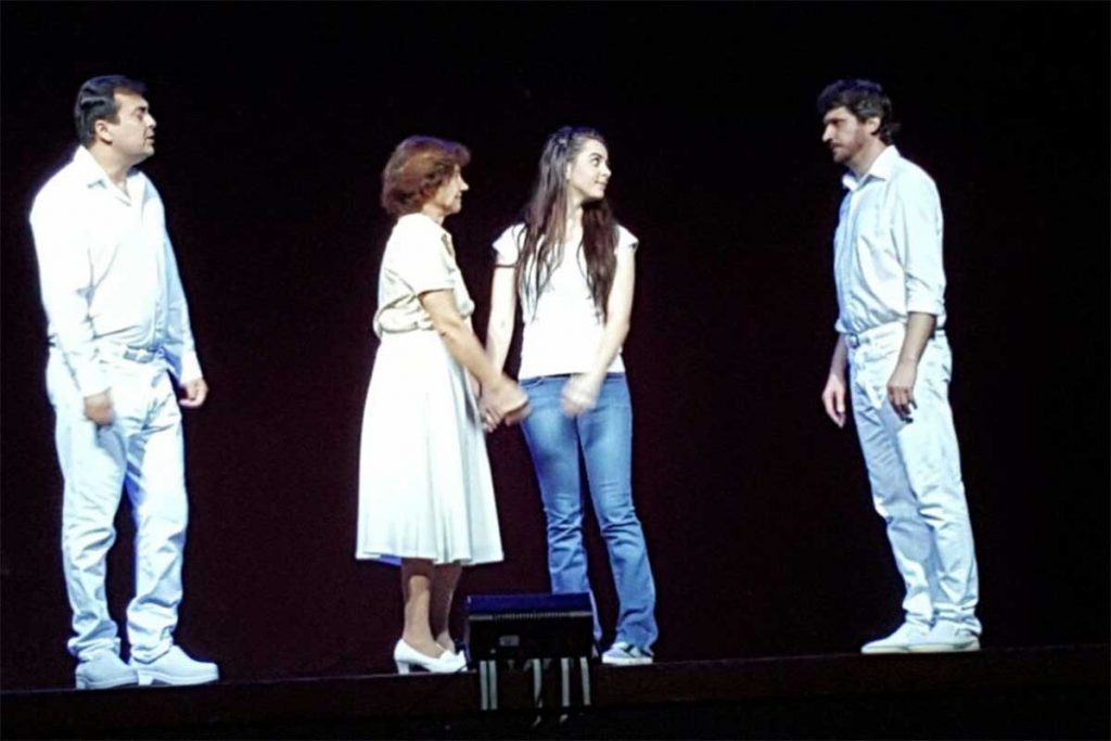
[[[504,366],[520,303],[519,378],[532,410],[522,429],[548,521],[552,591],[590,591],[581,450],[620,601],[617,637],[602,661],[631,664],[652,661],[658,630],[632,504],[632,408],[621,359],[638,242],[605,202],[610,176],[598,131],[567,127],[548,139],[523,222],[494,242],[487,352],[496,368]],[[483,413],[488,427],[498,422],[497,410]]]

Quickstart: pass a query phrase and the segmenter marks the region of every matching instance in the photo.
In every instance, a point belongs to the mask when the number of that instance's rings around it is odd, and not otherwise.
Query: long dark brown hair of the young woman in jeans
[[[548,138],[540,154],[537,181],[524,207],[524,232],[517,260],[518,289],[532,299],[533,308],[551,280],[552,271],[563,260],[567,170],[589,140],[605,144],[595,129],[563,127]],[[594,308],[603,318],[610,289],[613,288],[617,243],[618,222],[605,199],[583,203],[582,253],[587,262],[587,284],[594,299]],[[572,249],[575,248],[572,246]]]

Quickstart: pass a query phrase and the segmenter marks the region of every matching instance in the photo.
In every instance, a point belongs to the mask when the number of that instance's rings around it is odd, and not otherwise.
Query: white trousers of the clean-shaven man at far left
[[[188,503],[181,411],[166,362],[106,361],[116,420],[98,427],[61,353],[51,350],[47,388],[54,407],[54,442],[66,481],[62,567],[73,610],[69,651],[88,658],[120,650],[104,595],[106,558],[122,491],[136,523],[136,593],[128,605],[131,655],[152,660],[169,650],[181,602]]]

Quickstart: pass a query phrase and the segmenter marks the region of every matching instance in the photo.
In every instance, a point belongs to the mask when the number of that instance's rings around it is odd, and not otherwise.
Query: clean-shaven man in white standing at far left
[[[79,689],[198,684],[219,675],[216,664],[173,643],[188,520],[178,405],[200,407],[208,387],[162,201],[134,169],[154,153],[144,93],[120,76],[81,86],[73,109],[81,146],[36,196],[30,217],[66,482],[62,564]],[[168,371],[183,390],[180,402]],[[128,663],[104,598],[123,489],[136,522]]]

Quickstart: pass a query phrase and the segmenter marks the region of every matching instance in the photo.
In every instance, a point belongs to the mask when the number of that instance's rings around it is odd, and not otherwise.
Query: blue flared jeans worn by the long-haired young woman
[[[521,381],[532,407],[522,427],[548,519],[552,592],[590,592],[582,540],[581,449],[620,602],[615,640],[650,649],[659,634],[655,584],[644,533],[632,505],[629,384],[623,373],[610,373],[602,383],[597,407],[570,418],[560,409],[560,393],[567,380],[567,375],[546,375]],[[597,610],[594,635],[601,639]]]

